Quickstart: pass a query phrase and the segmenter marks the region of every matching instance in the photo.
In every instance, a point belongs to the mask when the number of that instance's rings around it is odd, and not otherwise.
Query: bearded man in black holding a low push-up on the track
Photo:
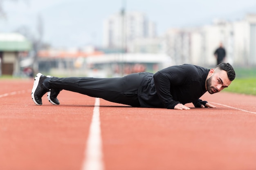
[[[221,63],[207,69],[191,64],[170,66],[157,73],[133,73],[116,78],[51,77],[38,73],[31,97],[35,104],[42,104],[43,95],[52,104],[60,104],[57,95],[61,90],[99,97],[110,102],[134,107],[190,109],[184,106],[216,108],[199,99],[205,92],[210,94],[227,88],[236,74],[229,63]]]

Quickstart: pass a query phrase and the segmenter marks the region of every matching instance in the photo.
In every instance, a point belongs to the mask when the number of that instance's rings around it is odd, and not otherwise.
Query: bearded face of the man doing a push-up
[[[232,81],[227,77],[227,72],[224,70],[214,71],[214,73],[206,81],[207,91],[210,94],[222,91],[227,88]]]

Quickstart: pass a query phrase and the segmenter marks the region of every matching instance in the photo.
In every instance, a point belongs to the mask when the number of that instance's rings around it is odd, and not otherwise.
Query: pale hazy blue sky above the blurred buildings
[[[211,24],[213,19],[241,20],[256,13],[256,0],[0,0],[6,16],[0,32],[24,28],[53,47],[102,45],[103,20],[122,8],[140,11],[155,22],[157,35],[170,28]],[[41,22],[39,22],[39,20]]]

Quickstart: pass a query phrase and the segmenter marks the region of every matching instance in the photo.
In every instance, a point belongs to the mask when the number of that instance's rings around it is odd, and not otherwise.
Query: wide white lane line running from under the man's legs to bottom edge
[[[100,125],[99,98],[96,98],[82,170],[104,169]]]

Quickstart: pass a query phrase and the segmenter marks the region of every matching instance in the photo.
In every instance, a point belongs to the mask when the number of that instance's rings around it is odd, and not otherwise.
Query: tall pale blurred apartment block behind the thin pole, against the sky
[[[138,38],[154,38],[155,24],[144,13],[128,12],[110,15],[103,23],[103,46],[130,52]]]

